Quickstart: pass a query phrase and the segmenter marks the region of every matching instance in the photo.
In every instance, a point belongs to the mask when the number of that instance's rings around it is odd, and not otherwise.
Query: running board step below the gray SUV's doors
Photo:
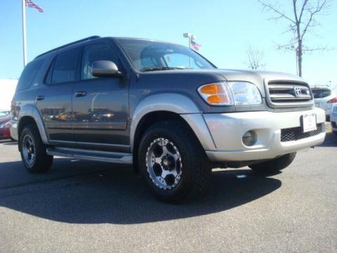
[[[77,148],[47,148],[48,155],[71,157],[80,160],[112,162],[117,164],[132,164],[133,155],[130,153],[114,153],[106,151],[82,150]]]

